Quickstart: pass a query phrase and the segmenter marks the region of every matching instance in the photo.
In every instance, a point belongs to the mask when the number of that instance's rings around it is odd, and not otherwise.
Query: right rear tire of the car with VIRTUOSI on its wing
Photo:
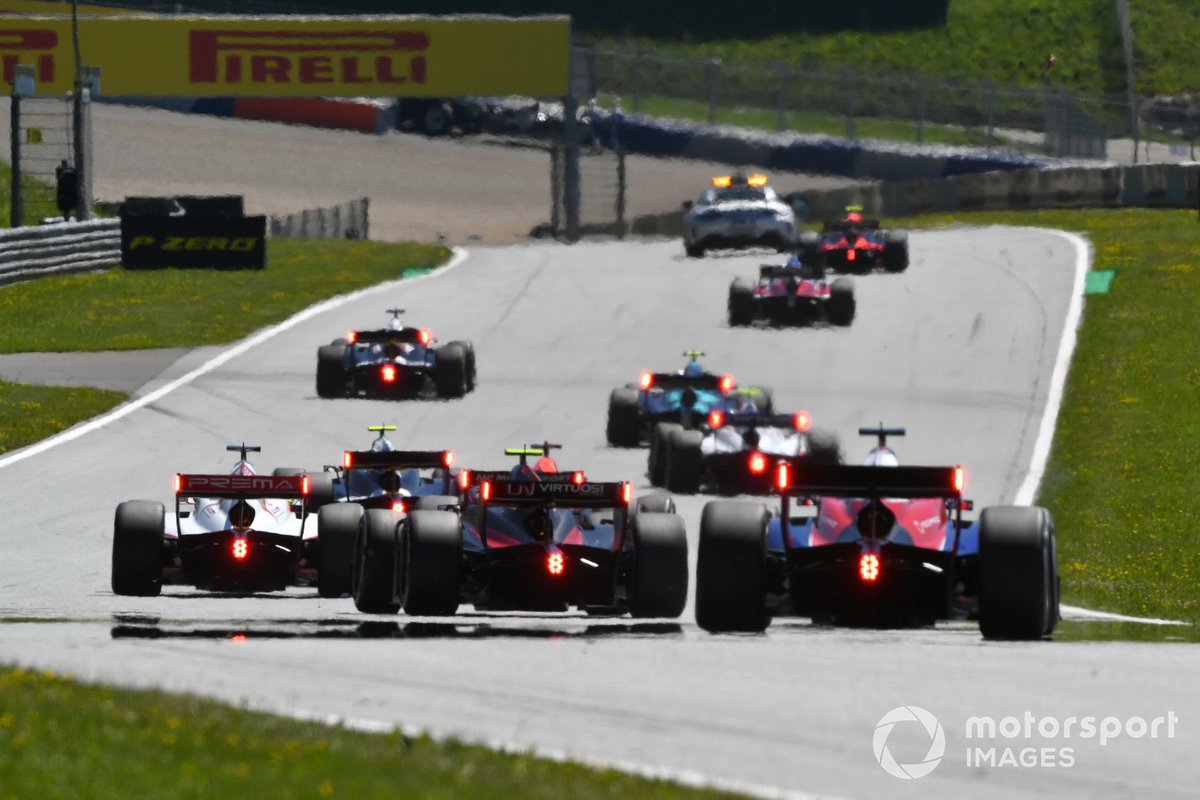
[[[634,570],[629,613],[674,619],[688,604],[688,534],[673,513],[637,513],[632,519]]]

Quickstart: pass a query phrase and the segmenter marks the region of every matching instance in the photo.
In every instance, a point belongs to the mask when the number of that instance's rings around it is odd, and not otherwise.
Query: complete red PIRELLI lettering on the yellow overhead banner
[[[192,30],[192,83],[424,84],[427,34]]]

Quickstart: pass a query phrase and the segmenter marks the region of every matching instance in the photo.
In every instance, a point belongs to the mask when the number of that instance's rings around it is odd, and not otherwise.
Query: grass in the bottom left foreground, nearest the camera
[[[23,669],[0,670],[0,775],[17,800],[733,796]]]

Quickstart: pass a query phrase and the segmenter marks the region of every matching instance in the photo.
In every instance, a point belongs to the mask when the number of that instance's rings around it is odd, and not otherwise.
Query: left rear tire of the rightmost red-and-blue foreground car
[[[766,506],[713,500],[700,518],[696,624],[709,633],[757,633],[767,613]]]

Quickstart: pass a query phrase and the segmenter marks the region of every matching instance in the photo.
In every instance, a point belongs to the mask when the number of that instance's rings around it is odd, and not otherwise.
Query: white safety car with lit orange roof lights
[[[762,174],[719,175],[695,205],[685,207],[683,246],[689,258],[746,247],[782,252],[796,242],[796,213]]]

